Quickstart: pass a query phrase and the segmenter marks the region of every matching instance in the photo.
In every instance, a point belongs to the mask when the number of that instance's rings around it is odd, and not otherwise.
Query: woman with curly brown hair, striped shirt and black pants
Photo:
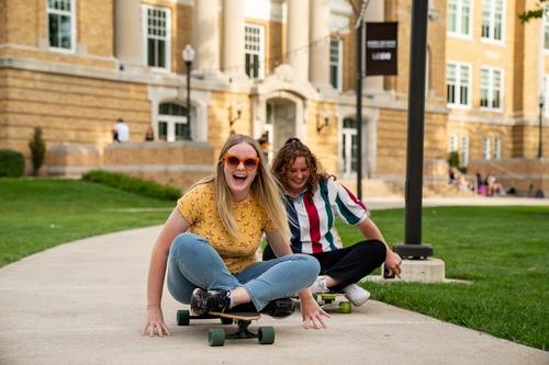
[[[386,246],[383,235],[369,218],[366,206],[351,192],[323,171],[309,147],[290,138],[272,161],[272,173],[287,190],[285,209],[292,251],[313,255],[321,263],[321,276],[310,287],[313,294],[339,292],[356,307],[370,293],[356,283],[383,262],[392,273],[401,272],[401,258]],[[335,218],[356,226],[366,240],[341,248]],[[272,259],[270,248],[264,261]]]

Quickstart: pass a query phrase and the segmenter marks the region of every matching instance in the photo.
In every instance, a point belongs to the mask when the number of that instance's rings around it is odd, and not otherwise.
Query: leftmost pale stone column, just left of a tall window
[[[114,57],[125,70],[143,66],[139,20],[139,0],[114,2]]]

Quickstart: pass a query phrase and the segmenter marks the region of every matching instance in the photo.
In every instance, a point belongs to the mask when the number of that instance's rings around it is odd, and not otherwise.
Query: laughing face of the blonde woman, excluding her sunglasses
[[[242,142],[231,147],[226,155],[240,160],[236,168],[225,162],[223,174],[234,201],[244,201],[249,195],[251,183],[257,175],[257,169],[259,169],[259,166],[255,169],[246,169],[244,161],[257,158],[257,152],[250,145]]]

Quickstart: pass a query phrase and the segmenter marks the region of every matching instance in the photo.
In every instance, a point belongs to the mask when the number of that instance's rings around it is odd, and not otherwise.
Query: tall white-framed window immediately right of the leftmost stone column
[[[170,69],[171,15],[170,10],[143,7],[144,64],[157,69]]]

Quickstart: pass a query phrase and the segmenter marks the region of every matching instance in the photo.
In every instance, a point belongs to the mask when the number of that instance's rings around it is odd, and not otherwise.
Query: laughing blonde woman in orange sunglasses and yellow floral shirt
[[[192,315],[258,310],[285,317],[294,309],[289,297],[299,294],[304,327],[325,327],[328,315],[307,289],[318,262],[292,254],[282,195],[261,157],[256,140],[231,136],[215,174],[177,202],[153,249],[142,334],[169,335],[160,307],[166,269],[168,290],[190,304]],[[279,259],[256,262],[264,232]]]

